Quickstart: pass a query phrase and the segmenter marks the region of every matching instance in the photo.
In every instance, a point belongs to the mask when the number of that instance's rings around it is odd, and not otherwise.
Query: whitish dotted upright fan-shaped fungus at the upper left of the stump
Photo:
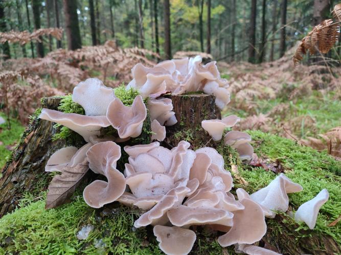
[[[108,105],[113,99],[113,89],[104,86],[97,78],[80,82],[72,93],[72,100],[80,104],[88,116],[106,115]]]

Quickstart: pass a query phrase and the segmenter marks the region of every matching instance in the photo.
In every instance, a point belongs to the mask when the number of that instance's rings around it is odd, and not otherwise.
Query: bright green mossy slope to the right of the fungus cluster
[[[294,210],[297,210],[302,203],[312,199],[322,189],[326,188],[329,192],[329,200],[321,208],[314,230],[310,231],[304,223],[298,224],[287,217],[288,223],[297,228],[297,237],[306,235],[306,232],[300,234],[300,230],[309,230],[309,235],[328,235],[341,245],[341,224],[328,226],[341,214],[341,177],[338,176],[341,174],[341,162],[324,152],[300,146],[285,138],[259,131],[250,131],[249,134],[255,140],[254,147],[258,156],[273,161],[279,160],[286,176],[293,182],[302,185],[303,191],[289,194],[290,206]],[[239,171],[249,185],[236,184],[235,186],[236,188],[242,187],[249,193],[265,187],[276,177],[275,173],[265,171],[260,167],[245,166]]]

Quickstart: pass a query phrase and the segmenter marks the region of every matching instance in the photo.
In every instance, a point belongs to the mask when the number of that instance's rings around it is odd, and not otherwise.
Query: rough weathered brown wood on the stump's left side
[[[57,110],[59,97],[42,99],[42,107]],[[0,179],[0,217],[11,212],[25,192],[36,193],[47,188],[49,175],[44,172],[46,162],[65,141],[52,141],[56,133],[54,123],[36,118],[30,123],[6,163]]]

